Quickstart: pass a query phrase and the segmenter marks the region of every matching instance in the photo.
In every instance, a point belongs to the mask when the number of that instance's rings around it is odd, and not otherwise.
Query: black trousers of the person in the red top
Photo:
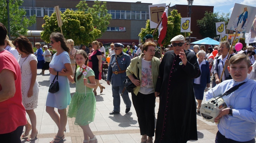
[[[0,134],[0,142],[2,143],[21,143],[20,136],[22,134],[24,126],[19,126],[16,130],[10,132],[10,133],[5,133],[5,134]]]

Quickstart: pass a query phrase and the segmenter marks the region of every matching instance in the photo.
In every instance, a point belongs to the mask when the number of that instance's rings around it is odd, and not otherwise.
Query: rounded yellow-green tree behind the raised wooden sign
[[[99,37],[100,30],[94,28],[91,14],[67,9],[60,15],[63,23],[61,28],[64,37],[74,40],[76,45],[91,43]],[[60,32],[61,30],[58,27],[55,12],[51,17],[45,15],[44,20],[45,24],[42,25],[44,30],[41,32],[41,39],[49,43],[51,33],[54,31]]]

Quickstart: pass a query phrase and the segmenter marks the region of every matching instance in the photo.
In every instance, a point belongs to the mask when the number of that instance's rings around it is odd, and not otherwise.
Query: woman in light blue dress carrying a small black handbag
[[[72,75],[73,71],[69,58],[70,48],[67,46],[63,35],[61,33],[54,32],[51,34],[50,38],[52,48],[57,51],[57,53],[53,55],[53,59],[49,64],[50,82],[53,82],[53,79],[58,72],[59,91],[55,94],[48,92],[46,99],[46,112],[51,116],[53,121],[58,126],[58,133],[54,140],[50,142],[57,143],[65,138],[64,131],[66,131],[66,124],[68,119],[66,108],[71,100],[70,87],[67,76]],[[66,72],[61,73],[60,71],[62,69],[66,69]],[[58,109],[60,116],[54,111],[54,108]]]

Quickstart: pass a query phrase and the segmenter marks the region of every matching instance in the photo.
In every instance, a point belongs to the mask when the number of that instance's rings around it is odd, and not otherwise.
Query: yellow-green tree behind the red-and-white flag
[[[177,10],[172,10],[168,15],[170,16],[168,16],[168,21],[167,21],[166,37],[165,39],[163,39],[163,43],[162,43],[162,45],[165,47],[167,47],[167,45],[170,44],[169,41],[171,41],[171,39],[176,35],[179,35],[179,34],[184,35],[184,33],[181,33],[181,14],[178,13]],[[146,34],[153,34],[154,30],[155,29],[150,29],[150,20],[147,20],[146,27],[141,28],[139,37],[143,39],[143,37]],[[188,35],[189,33],[186,33],[186,36]],[[155,40],[158,40],[158,29],[156,30],[156,33],[154,34],[153,37]]]

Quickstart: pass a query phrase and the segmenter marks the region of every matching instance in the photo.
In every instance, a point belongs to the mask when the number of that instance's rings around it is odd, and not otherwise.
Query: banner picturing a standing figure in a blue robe
[[[255,7],[235,3],[227,29],[241,33],[249,33],[254,20],[252,17],[255,17],[255,15]]]

